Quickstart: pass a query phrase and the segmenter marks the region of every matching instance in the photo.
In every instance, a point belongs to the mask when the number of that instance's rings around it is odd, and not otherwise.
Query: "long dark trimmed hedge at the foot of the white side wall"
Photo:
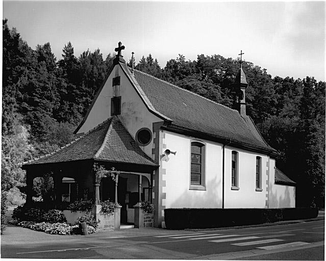
[[[166,208],[168,229],[215,228],[315,218],[318,208]]]

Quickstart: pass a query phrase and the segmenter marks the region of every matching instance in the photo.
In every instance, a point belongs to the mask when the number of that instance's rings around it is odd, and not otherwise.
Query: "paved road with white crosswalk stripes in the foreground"
[[[1,254],[2,258],[323,260],[324,220],[238,229],[158,229],[133,237],[107,232],[54,242],[2,242]]]

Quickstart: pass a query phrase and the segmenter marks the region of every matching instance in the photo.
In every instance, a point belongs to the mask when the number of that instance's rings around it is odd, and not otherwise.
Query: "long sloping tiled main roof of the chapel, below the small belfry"
[[[134,70],[134,77],[155,110],[170,118],[172,125],[276,152],[250,117],[144,72]]]

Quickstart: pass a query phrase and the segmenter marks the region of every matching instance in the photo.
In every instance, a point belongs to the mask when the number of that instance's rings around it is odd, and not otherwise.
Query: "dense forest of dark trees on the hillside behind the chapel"
[[[63,47],[57,61],[50,43],[32,49],[3,20],[2,206],[24,201],[23,161],[51,153],[73,140],[114,54],[99,49],[74,56]],[[129,61],[131,66],[132,61]],[[183,55],[164,68],[151,54],[135,68],[232,108],[232,84],[239,60],[220,55]],[[307,65],[309,66],[309,65]],[[296,205],[324,208],[325,82],[271,77],[266,69],[244,61],[247,115],[266,142],[280,152],[277,167],[297,183]],[[35,196],[48,194],[48,181],[37,181]],[[5,211],[5,210],[4,210]]]

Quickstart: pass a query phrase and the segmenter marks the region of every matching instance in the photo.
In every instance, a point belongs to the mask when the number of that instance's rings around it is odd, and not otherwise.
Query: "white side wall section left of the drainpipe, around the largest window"
[[[169,155],[169,161],[161,161],[166,170],[166,199],[163,205],[169,207],[222,207],[222,146],[221,144],[164,132],[163,144],[177,154]],[[206,144],[206,190],[189,190],[190,185],[190,144],[202,141]],[[165,149],[162,149],[162,154]]]

